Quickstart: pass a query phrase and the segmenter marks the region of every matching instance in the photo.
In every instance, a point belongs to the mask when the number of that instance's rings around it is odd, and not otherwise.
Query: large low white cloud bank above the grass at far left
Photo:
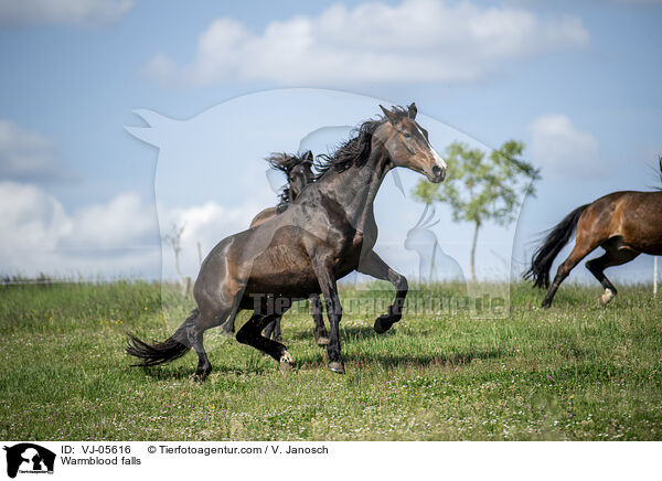
[[[0,182],[0,274],[158,275],[153,209],[138,194],[67,213],[29,184]]]

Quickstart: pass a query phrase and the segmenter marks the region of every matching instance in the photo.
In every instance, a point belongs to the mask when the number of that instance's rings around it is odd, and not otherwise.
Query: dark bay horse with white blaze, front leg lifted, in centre
[[[412,169],[438,183],[446,177],[446,163],[416,122],[414,104],[382,110],[384,117],[363,122],[356,136],[323,162],[316,182],[282,214],[231,235],[212,249],[193,288],[197,308],[169,339],[148,344],[130,335],[127,353],[137,356],[139,365],[156,365],[193,348],[195,376],[203,380],[212,371],[204,332],[247,309],[253,316],[237,332],[237,341],[269,354],[286,370],[293,363],[286,346],[261,331],[293,300],[323,293],[331,325],[329,368],[344,373],[337,280],[353,270],[396,286],[395,300],[376,319],[374,330],[383,333],[399,321],[407,280],[373,250],[377,239],[373,203],[391,169]]]

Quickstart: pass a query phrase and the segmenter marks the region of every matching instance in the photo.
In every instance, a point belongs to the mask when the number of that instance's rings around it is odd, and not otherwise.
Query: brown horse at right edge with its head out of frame
[[[662,161],[660,164],[662,171]],[[558,267],[549,286],[554,258],[577,231],[575,248]],[[602,247],[606,253],[586,263],[586,267],[605,287],[598,302],[606,306],[616,296],[616,287],[605,269],[629,263],[639,254],[662,255],[662,192],[613,192],[577,207],[560,221],[537,248],[524,278],[536,287],[547,288],[543,308],[552,306],[558,286],[589,253]]]

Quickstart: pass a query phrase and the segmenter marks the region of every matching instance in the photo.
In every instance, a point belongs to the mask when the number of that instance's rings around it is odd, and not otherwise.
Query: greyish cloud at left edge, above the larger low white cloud
[[[56,158],[53,142],[38,132],[0,120],[0,180],[63,180],[68,170]]]

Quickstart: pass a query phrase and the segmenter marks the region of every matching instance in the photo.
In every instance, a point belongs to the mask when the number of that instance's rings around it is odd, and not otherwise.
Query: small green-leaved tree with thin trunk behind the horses
[[[414,197],[425,203],[450,205],[455,222],[474,225],[471,243],[471,279],[476,281],[476,243],[478,232],[487,221],[509,225],[520,206],[517,194],[535,195],[533,182],[540,170],[520,159],[524,143],[509,140],[489,156],[462,142],[452,142],[446,150],[448,178],[441,184],[419,181]]]

